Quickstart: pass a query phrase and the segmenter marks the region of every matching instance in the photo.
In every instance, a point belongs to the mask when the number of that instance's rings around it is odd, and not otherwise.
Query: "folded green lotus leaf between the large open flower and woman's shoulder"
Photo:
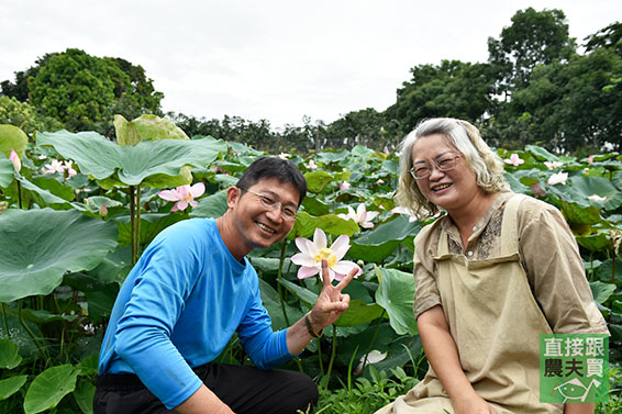
[[[352,247],[348,256],[365,261],[381,261],[389,256],[398,245],[407,238],[413,238],[419,233],[421,224],[409,222],[409,217],[400,215],[388,223],[382,223],[360,237],[351,239]]]

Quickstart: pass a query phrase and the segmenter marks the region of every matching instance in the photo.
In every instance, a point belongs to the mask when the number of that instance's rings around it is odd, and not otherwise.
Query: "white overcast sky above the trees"
[[[384,111],[409,69],[486,61],[518,10],[562,9],[582,38],[622,20],[620,0],[177,0],[0,3],[0,81],[80,48],[141,65],[163,109],[266,119],[273,127]]]

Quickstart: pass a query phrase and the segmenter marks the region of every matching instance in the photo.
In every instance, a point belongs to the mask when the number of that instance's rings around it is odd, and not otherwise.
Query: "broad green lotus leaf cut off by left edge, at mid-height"
[[[8,210],[0,215],[0,302],[48,294],[66,271],[95,268],[116,247],[113,223],[76,210]]]

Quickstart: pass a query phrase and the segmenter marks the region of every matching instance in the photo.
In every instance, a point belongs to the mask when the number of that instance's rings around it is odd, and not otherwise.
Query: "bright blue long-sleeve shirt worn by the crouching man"
[[[170,410],[202,384],[191,367],[215,359],[235,331],[259,368],[291,358],[287,329],[270,325],[253,266],[231,255],[215,221],[187,220],[163,231],[125,279],[99,373],[135,373]]]

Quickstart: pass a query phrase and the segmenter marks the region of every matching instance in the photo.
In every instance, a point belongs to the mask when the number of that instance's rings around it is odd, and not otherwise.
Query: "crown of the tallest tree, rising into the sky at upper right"
[[[499,40],[488,38],[488,61],[498,78],[497,94],[507,98],[513,90],[526,87],[537,65],[567,60],[575,51],[562,10],[519,10]]]

